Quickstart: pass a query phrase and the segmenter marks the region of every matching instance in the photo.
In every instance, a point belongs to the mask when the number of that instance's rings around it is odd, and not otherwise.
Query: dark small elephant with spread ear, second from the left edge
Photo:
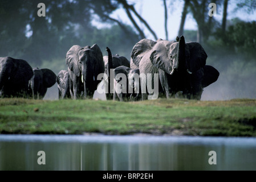
[[[34,75],[29,81],[29,89],[31,90],[31,97],[34,99],[43,99],[47,92],[47,88],[50,88],[56,83],[56,75],[51,69],[34,68]]]

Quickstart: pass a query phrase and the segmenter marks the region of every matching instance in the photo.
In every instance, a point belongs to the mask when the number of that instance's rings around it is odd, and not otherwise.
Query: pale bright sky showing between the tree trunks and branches
[[[167,1],[168,6],[168,34],[169,40],[176,38],[178,28],[180,27],[180,19],[184,1],[174,1],[172,5],[170,5],[171,1]],[[128,3],[135,3],[135,9],[137,12],[148,22],[149,26],[156,32],[157,37],[161,39],[165,39],[165,31],[164,31],[164,7],[162,0],[128,0]],[[239,17],[245,21],[256,20],[256,12],[254,14],[246,14],[242,11],[234,12],[234,7],[236,3],[234,0],[230,0],[228,4],[228,13],[227,19],[232,19],[235,17]],[[210,8],[209,8],[210,10]],[[123,23],[127,23],[132,25],[129,20],[127,14],[124,9],[118,9],[113,14],[111,14],[112,18],[121,19]],[[133,15],[135,18],[135,16]],[[217,6],[217,20],[222,19],[222,7]],[[139,20],[137,20],[139,22]],[[105,26],[104,24],[95,23],[96,26],[101,27]],[[193,16],[189,14],[186,16],[185,22],[185,30],[197,30],[197,23],[193,19]],[[153,36],[145,31],[147,38],[154,39]]]

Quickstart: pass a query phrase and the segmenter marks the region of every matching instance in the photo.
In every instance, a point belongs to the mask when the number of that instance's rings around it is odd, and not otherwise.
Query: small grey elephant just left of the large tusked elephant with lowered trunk
[[[70,74],[67,70],[61,70],[57,77],[56,82],[58,84],[59,99],[71,98],[70,94]]]

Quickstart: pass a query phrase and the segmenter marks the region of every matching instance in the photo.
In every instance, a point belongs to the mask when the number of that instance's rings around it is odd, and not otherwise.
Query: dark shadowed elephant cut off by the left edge
[[[32,76],[33,71],[27,61],[0,57],[0,96],[28,97],[29,80]]]

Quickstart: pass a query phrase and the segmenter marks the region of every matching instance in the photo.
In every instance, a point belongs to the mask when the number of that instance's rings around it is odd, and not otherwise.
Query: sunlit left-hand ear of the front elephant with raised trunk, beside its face
[[[153,47],[151,51],[151,55],[149,59],[151,60],[151,63],[159,68],[165,71],[166,73],[172,72],[172,60],[170,59],[169,52],[171,50],[171,45],[173,42],[169,42],[167,40],[162,40],[160,42],[157,42],[157,44]]]

